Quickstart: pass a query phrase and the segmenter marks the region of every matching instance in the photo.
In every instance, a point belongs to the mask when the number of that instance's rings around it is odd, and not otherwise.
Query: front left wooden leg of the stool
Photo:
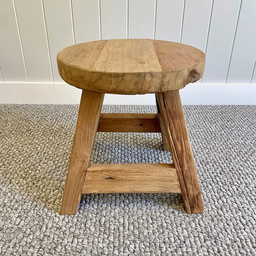
[[[83,90],[60,214],[75,214],[100,120],[104,93]]]

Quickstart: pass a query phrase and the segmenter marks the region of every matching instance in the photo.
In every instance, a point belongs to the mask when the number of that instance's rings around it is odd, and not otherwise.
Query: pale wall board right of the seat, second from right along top
[[[214,0],[203,82],[224,83],[240,0]]]

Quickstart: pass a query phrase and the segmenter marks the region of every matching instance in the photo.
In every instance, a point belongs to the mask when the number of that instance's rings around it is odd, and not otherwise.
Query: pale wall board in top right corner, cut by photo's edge
[[[256,56],[256,1],[242,2],[228,83],[250,83]]]

